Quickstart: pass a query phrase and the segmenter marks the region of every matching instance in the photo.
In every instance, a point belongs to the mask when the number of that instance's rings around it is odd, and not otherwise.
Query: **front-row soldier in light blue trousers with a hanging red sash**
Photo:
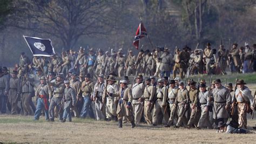
[[[42,109],[44,108],[45,119],[49,119],[49,95],[51,94],[50,87],[46,84],[46,78],[42,76],[40,78],[40,84],[38,85],[35,95],[37,98],[37,106],[35,112],[35,120],[39,120]]]

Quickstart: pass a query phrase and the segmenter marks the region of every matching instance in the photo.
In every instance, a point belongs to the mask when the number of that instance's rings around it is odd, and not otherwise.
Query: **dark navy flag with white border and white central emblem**
[[[23,36],[26,44],[28,44],[33,56],[50,57],[55,54],[54,48],[51,45],[50,39],[42,39],[37,37]]]

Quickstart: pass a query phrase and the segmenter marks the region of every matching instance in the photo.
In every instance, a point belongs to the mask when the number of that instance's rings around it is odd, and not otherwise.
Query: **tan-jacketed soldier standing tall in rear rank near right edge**
[[[238,73],[241,73],[241,71],[240,71],[241,59],[240,59],[240,55],[239,55],[239,49],[237,48],[237,46],[238,46],[237,43],[233,44],[233,48],[230,51],[230,54],[233,57],[235,69],[237,70]]]

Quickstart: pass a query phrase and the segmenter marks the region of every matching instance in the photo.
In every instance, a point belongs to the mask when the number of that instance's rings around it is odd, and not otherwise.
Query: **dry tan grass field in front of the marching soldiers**
[[[33,143],[256,143],[256,120],[248,120],[250,134],[219,134],[216,130],[175,129],[140,125],[131,128],[117,122],[73,119],[46,122],[42,117],[0,115],[0,142]]]

